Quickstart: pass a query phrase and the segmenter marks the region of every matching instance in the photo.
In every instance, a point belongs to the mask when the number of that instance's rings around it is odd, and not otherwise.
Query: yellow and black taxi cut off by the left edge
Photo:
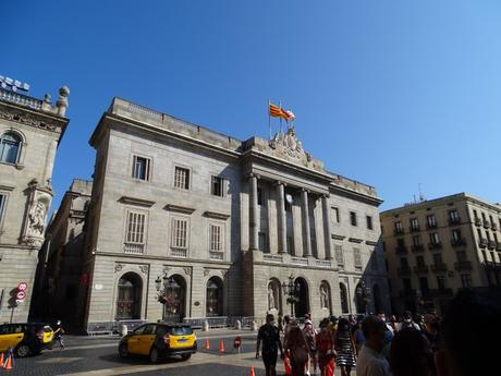
[[[42,323],[2,324],[0,352],[12,349],[17,357],[36,355],[52,345],[53,335],[52,328]]]

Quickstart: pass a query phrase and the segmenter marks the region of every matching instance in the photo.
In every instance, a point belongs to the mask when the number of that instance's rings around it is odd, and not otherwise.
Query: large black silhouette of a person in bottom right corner
[[[440,323],[441,343],[435,354],[437,375],[498,374],[500,318],[499,290],[459,292]]]

